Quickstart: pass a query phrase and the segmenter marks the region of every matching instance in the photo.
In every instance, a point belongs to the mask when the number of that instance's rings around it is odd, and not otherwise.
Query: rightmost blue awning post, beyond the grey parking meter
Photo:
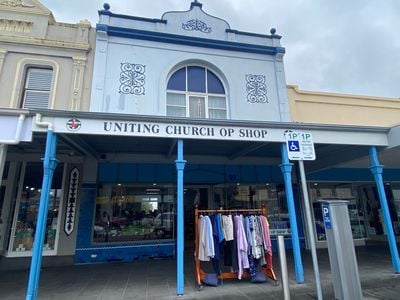
[[[389,241],[390,254],[392,255],[392,264],[395,273],[400,273],[400,259],[399,252],[396,245],[396,237],[393,232],[392,220],[390,218],[389,206],[387,204],[385,187],[383,185],[383,165],[379,164],[378,153],[375,147],[369,148],[369,155],[371,159],[370,170],[375,178],[376,187],[378,189],[379,201],[383,213],[383,220],[385,222],[386,233]]]

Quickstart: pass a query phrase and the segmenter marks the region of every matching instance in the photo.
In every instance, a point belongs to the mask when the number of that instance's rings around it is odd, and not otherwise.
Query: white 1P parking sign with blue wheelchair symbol
[[[315,149],[310,132],[285,131],[286,148],[290,160],[315,160]]]

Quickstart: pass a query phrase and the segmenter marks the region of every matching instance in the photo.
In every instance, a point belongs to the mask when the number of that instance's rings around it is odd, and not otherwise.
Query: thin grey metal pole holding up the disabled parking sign
[[[322,300],[322,290],[321,290],[321,281],[320,281],[320,277],[319,277],[317,250],[315,247],[314,226],[313,226],[312,218],[311,218],[311,208],[310,208],[310,201],[308,199],[306,174],[304,172],[304,163],[302,160],[299,160],[299,167],[300,167],[301,188],[303,190],[303,198],[304,198],[304,206],[305,206],[304,208],[306,211],[306,218],[307,218],[308,238],[309,238],[310,245],[311,245],[311,256],[312,256],[313,267],[314,267],[315,284],[317,287],[317,296],[318,296],[318,300]]]

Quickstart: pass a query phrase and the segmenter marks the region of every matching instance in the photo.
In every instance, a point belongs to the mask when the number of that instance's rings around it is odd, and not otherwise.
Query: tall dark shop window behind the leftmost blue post
[[[44,251],[54,250],[59,222],[59,207],[61,201],[61,182],[63,165],[59,164],[53,176],[49,195],[48,212],[45,228]],[[28,162],[25,166],[23,185],[19,187],[20,197],[17,199],[14,213],[15,227],[12,229],[12,252],[27,252],[33,248],[37,225],[37,216],[41,195],[43,164]]]

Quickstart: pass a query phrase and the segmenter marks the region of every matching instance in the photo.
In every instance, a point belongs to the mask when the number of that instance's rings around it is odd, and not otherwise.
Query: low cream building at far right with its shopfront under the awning
[[[345,95],[327,92],[300,90],[288,86],[291,117],[294,122],[313,124],[342,124],[355,126],[376,126],[391,128],[388,132],[389,147],[380,152],[380,160],[385,166],[383,171],[384,190],[393,223],[396,240],[399,241],[399,164],[397,134],[398,99]],[[310,110],[320,113],[309,114]],[[321,227],[322,215],[318,199],[337,198],[350,200],[351,227],[356,245],[386,241],[384,218],[379,193],[374,182],[371,182],[371,171],[366,166],[370,162],[366,157],[347,158],[346,151],[340,152],[343,160],[333,168],[324,171],[310,172],[308,177],[309,194],[314,202],[317,246],[325,247],[324,229]],[[334,160],[335,163],[339,159]],[[321,166],[318,167],[321,169]],[[312,170],[311,170],[312,171]],[[357,212],[358,211],[358,212]]]

